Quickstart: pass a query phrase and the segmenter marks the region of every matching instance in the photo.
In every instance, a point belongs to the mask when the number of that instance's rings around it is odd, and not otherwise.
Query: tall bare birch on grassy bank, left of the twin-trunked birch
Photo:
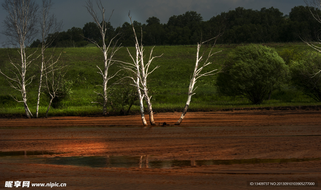
[[[88,39],[91,43],[95,44],[97,47],[100,48],[103,56],[104,56],[104,67],[101,69],[98,65],[97,68],[99,69],[99,74],[101,74],[102,78],[103,78],[103,82],[102,85],[98,85],[100,87],[102,87],[102,93],[100,92],[96,92],[94,91],[98,96],[100,96],[102,98],[102,102],[92,102],[92,103],[96,103],[96,104],[100,104],[103,107],[103,115],[107,114],[107,103],[108,103],[108,89],[113,85],[108,83],[108,81],[110,79],[112,79],[114,76],[117,75],[118,72],[114,73],[114,74],[110,74],[108,73],[108,69],[111,65],[113,65],[115,63],[115,61],[112,61],[113,56],[115,55],[115,53],[121,48],[119,44],[119,46],[117,46],[117,42],[118,39],[116,39],[116,37],[119,35],[119,33],[117,35],[115,35],[112,39],[110,39],[108,45],[105,44],[105,35],[106,35],[106,30],[107,28],[107,23],[109,22],[111,15],[113,13],[111,13],[109,19],[105,19],[105,11],[106,9],[104,9],[103,5],[101,4],[101,1],[97,0],[96,4],[100,10],[100,13],[97,13],[94,9],[94,5],[92,4],[91,0],[88,0],[86,2],[86,5],[84,7],[87,8],[88,13],[91,15],[92,19],[94,20],[94,22],[97,24],[97,27],[100,30],[100,34],[101,34],[101,39],[102,39],[102,47],[100,47],[98,45],[98,42],[95,41],[94,39]],[[99,17],[102,17],[102,20],[100,20]],[[116,40],[116,41],[114,41]]]

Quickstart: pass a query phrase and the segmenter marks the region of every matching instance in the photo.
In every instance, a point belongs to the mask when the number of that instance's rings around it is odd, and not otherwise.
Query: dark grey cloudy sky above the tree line
[[[59,20],[63,20],[63,30],[71,27],[82,28],[86,22],[92,22],[92,18],[83,5],[85,1],[78,0],[53,0],[53,13]],[[124,22],[129,22],[128,12],[133,20],[145,23],[148,17],[156,16],[161,23],[167,23],[168,18],[173,15],[183,14],[186,11],[196,11],[201,13],[204,21],[209,20],[216,14],[227,12],[236,7],[246,9],[260,10],[262,7],[278,8],[284,14],[289,14],[291,8],[298,5],[305,5],[303,0],[101,0],[106,9],[105,15],[110,16],[112,10],[114,13],[110,19],[111,24],[116,28]],[[4,0],[0,0],[1,4]],[[37,0],[37,2],[41,2]],[[95,2],[95,0],[94,0]],[[6,16],[6,12],[0,11],[1,26]],[[5,37],[0,34],[0,41]]]

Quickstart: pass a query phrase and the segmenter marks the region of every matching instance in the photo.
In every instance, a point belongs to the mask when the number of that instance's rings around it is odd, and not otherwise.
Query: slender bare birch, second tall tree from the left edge
[[[56,39],[58,32],[62,28],[62,21],[57,21],[54,14],[50,15],[50,10],[52,9],[53,2],[52,0],[42,0],[42,4],[40,7],[40,15],[39,15],[39,24],[40,24],[40,32],[41,32],[41,63],[39,65],[40,68],[40,76],[39,76],[39,88],[38,88],[38,97],[37,97],[37,106],[36,106],[36,118],[38,118],[39,111],[39,100],[40,100],[40,92],[42,87],[42,78],[44,75],[44,67],[46,64],[50,64],[50,60],[55,51],[52,51],[51,56],[48,58],[45,55],[46,49],[52,44],[52,42]],[[48,36],[48,34],[52,34]],[[51,62],[53,63],[53,62]],[[49,66],[48,68],[51,68]],[[48,112],[48,111],[47,111]],[[47,117],[47,114],[46,114]]]

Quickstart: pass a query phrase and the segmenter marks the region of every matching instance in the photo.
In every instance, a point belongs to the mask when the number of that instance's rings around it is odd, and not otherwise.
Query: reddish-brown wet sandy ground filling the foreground
[[[166,127],[143,127],[138,115],[0,118],[0,151],[68,152],[56,156],[152,155],[158,160],[321,158],[320,113],[190,112],[179,126],[173,124],[180,113],[156,114],[155,121],[170,124]],[[153,169],[23,164],[0,157],[0,188],[6,188],[5,181],[19,180],[67,184],[56,189],[321,189],[320,174],[321,160]],[[320,184],[248,187],[250,180]],[[34,187],[42,188],[48,187]]]

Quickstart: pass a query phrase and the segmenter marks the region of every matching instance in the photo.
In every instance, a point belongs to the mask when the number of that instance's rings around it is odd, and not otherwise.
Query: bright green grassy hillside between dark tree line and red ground
[[[274,47],[278,52],[284,49],[303,51],[308,47],[303,43],[288,44],[266,44]],[[224,63],[227,54],[233,51],[234,45],[224,45],[221,54],[214,57],[215,63]],[[128,47],[129,51],[134,53],[134,47]],[[145,53],[151,47],[145,47]],[[61,49],[57,49],[58,51]],[[102,78],[97,73],[98,68],[103,64],[100,49],[97,47],[80,47],[80,48],[64,48],[63,59],[68,65],[67,77],[73,81],[72,95],[69,99],[63,101],[60,108],[51,109],[49,116],[78,116],[99,114],[100,108],[94,107],[91,103],[95,94],[93,90],[102,82]],[[196,46],[157,46],[154,48],[153,56],[155,58],[151,64],[154,68],[156,65],[160,68],[156,69],[149,75],[148,85],[150,94],[152,94],[153,110],[158,111],[180,111],[187,99],[187,88],[189,84],[190,74],[195,63]],[[0,68],[3,69],[7,64],[7,50],[0,49]],[[147,56],[146,56],[147,57]],[[122,47],[117,55],[116,60],[130,62],[131,58],[126,50]],[[212,65],[208,68],[218,67]],[[114,64],[110,72],[116,72],[117,64]],[[34,71],[36,72],[36,71]],[[189,111],[195,110],[219,110],[222,108],[245,108],[257,107],[252,105],[247,99],[233,99],[230,97],[220,96],[215,89],[215,75],[200,78],[196,83],[198,86],[193,95],[189,107]],[[36,105],[36,85],[37,80],[31,84],[28,93],[28,105],[32,113],[35,113]],[[3,75],[0,75],[0,114],[23,114],[22,103],[17,103],[9,95],[19,94],[8,87],[8,82]],[[307,97],[302,92],[290,86],[284,86],[281,91],[274,91],[271,100],[266,100],[262,107],[274,106],[298,106],[298,105],[318,105],[318,102]],[[40,101],[39,116],[43,116],[48,107],[48,98],[42,94]],[[137,111],[137,106],[133,106],[132,111]],[[112,111],[112,110],[111,110]]]

